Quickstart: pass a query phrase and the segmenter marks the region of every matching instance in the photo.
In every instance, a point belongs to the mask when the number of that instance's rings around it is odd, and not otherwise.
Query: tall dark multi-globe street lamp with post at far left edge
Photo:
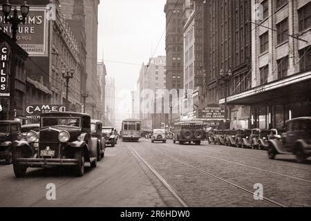
[[[6,1],[6,3],[2,4],[2,12],[4,15],[4,22],[5,23],[11,23],[12,25],[12,41],[17,41],[17,30],[20,23],[25,24],[26,17],[29,12],[29,6],[26,4],[26,1],[23,2],[23,4],[20,6],[21,8],[21,19],[19,18],[17,14],[17,7],[15,6],[15,9],[13,11],[13,16],[9,18],[10,12],[12,9],[12,6],[10,5],[9,1]],[[16,71],[16,48],[15,44],[12,44],[11,46],[11,67],[10,67],[10,99],[9,99],[9,119],[15,118],[15,109],[16,109],[16,103],[15,103],[15,71]]]

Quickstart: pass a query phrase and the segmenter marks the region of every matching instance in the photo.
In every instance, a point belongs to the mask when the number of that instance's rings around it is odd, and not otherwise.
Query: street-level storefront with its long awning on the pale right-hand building
[[[220,104],[224,102],[220,100]],[[249,128],[282,129],[288,119],[311,116],[311,72],[290,75],[230,96],[227,104],[249,106]]]

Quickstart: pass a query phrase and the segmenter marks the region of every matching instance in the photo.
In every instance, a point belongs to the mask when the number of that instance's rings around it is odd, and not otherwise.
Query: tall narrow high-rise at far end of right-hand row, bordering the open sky
[[[182,0],[167,0],[164,6],[166,16],[165,50],[167,57],[166,88],[183,89],[183,5]],[[180,95],[183,96],[183,95]],[[174,107],[179,110],[179,107]],[[180,113],[173,114],[172,122],[180,120]],[[167,122],[169,123],[169,122]]]

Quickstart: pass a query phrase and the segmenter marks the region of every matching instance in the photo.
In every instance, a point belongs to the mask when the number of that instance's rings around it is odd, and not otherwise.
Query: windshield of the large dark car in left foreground
[[[46,126],[73,126],[80,127],[80,117],[42,117],[41,127]]]

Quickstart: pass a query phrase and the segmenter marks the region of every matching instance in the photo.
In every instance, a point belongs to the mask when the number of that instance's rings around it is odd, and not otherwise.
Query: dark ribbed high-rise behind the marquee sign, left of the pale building
[[[195,0],[195,8],[199,5],[202,6],[202,23],[199,25],[202,27],[202,34],[200,31],[195,32],[195,39],[202,36],[203,64],[200,66],[199,62],[194,70],[194,75],[197,76],[196,86],[199,87],[195,88],[194,104],[202,110],[206,106],[217,106],[219,100],[226,95],[250,88],[252,38],[249,21],[253,14],[251,1]],[[199,48],[200,46],[199,44]],[[201,54],[198,51],[194,53]],[[232,77],[229,82],[220,78],[220,72],[230,71]],[[247,128],[247,111],[248,106],[227,106],[227,116],[234,120],[231,128]],[[225,117],[218,119],[217,123],[213,122],[213,125],[219,126],[222,122],[225,122]]]

